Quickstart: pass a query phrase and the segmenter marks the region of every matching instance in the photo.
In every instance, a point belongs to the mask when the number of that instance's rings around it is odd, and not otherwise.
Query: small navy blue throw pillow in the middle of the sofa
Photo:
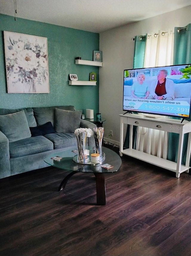
[[[47,122],[46,124],[42,124],[37,127],[29,127],[29,128],[31,132],[31,137],[56,132],[51,122]]]

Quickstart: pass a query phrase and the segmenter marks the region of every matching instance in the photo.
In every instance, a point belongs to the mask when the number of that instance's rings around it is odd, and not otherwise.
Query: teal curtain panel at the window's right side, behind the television
[[[175,27],[174,31],[174,56],[173,64],[190,64],[191,63],[191,23],[185,27]],[[180,119],[180,118],[178,118]],[[167,159],[177,162],[179,135],[169,133],[169,147]],[[188,133],[184,135],[182,164],[186,162],[186,150],[188,143]]]

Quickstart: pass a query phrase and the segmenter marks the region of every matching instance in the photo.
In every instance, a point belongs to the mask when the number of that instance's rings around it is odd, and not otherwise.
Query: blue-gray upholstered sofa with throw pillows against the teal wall
[[[74,106],[0,109],[0,178],[48,166],[44,158],[76,146],[74,130],[96,127]],[[94,137],[88,145],[95,146]]]

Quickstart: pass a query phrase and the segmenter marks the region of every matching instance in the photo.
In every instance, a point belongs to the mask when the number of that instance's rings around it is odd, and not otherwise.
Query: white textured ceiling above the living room
[[[0,13],[100,33],[191,5],[191,0],[0,0]]]

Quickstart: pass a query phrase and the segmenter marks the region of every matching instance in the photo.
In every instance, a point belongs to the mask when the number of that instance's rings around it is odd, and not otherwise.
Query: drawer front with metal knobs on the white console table
[[[136,126],[166,131],[166,132],[173,131],[173,124],[165,124],[165,123],[161,123],[161,122],[146,121],[146,120],[140,120],[140,119],[136,119],[136,118],[128,118],[127,123],[136,125]]]

